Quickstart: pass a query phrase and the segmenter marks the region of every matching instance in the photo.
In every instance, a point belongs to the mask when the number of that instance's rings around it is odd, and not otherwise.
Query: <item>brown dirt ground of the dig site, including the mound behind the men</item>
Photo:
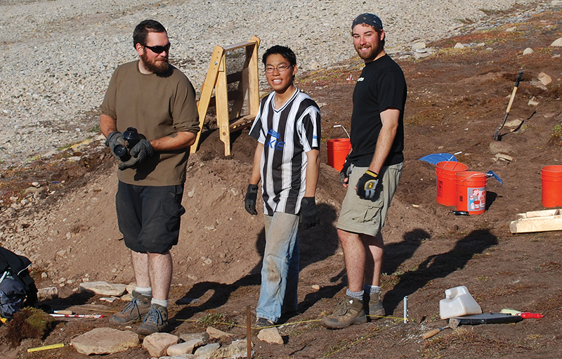
[[[523,23],[437,41],[429,44],[431,56],[417,60],[393,54],[403,67],[409,93],[405,169],[383,230],[382,287],[388,316],[340,330],[320,326],[320,318],[332,312],[346,287],[335,229],[344,188],[338,171],[322,164],[317,195],[321,224],[299,233],[299,313],[283,318],[282,346],[260,341],[254,330],[254,358],[555,358],[562,353],[561,233],[514,235],[509,230],[516,214],[544,209],[541,168],[562,160],[562,48],[549,46],[562,37],[561,18],[562,11],[547,11]],[[465,47],[454,48],[457,43]],[[525,48],[534,52],[523,56]],[[323,143],[345,136],[334,125],[349,129],[355,81],[348,78],[357,79],[360,70],[360,60],[352,58],[329,71],[297,76],[297,86],[322,104]],[[495,141],[519,70],[523,80],[507,126],[499,131],[501,141]],[[541,72],[552,79],[543,88],[537,86]],[[247,132],[233,134],[233,155],[227,158],[218,133],[208,130],[200,150],[190,156],[183,200],[187,213],[172,252],[169,310],[174,334],[201,332],[212,324],[243,339],[246,308],[255,310],[264,233],[262,216],[250,216],[243,207],[255,148]],[[470,171],[491,170],[503,181],[499,186],[488,179],[483,214],[455,216],[455,207],[438,204],[436,167],[419,161],[433,153],[460,151],[457,159]],[[498,159],[498,152],[507,159]],[[327,159],[325,145],[322,158]],[[30,233],[29,240],[37,242],[37,251],[27,253],[34,259],[37,287],[59,287],[60,299],[46,304],[110,315],[124,306],[122,301],[106,303],[76,288],[83,278],[133,281],[115,216],[117,166],[101,141],[65,150],[60,159],[33,162],[2,175],[5,206],[34,181],[48,188],[49,195],[32,209],[2,217],[1,226]],[[58,254],[61,249],[66,254]],[[461,325],[421,339],[424,332],[446,325],[439,318],[439,301],[445,289],[459,285],[469,289],[484,312],[516,308],[544,318],[514,325]],[[32,354],[26,349],[69,344],[72,337],[108,325],[105,319],[61,320],[44,340],[25,339],[15,348],[8,346],[4,325],[0,355],[83,358],[72,346]],[[150,355],[140,347],[111,355],[133,357]]]

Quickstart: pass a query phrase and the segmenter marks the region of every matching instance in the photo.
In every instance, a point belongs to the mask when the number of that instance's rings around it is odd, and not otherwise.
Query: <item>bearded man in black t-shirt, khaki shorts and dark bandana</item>
[[[380,296],[381,228],[404,162],[404,74],[384,52],[386,34],[377,15],[359,15],[351,29],[365,68],[353,91],[352,150],[340,173],[347,193],[337,228],[348,288],[334,313],[322,318],[322,325],[333,329],[367,322],[367,315],[385,315]]]

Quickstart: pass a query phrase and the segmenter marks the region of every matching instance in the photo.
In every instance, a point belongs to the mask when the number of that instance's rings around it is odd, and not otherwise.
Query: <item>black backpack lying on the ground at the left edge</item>
[[[31,261],[0,247],[0,315],[11,319],[21,308],[35,306],[37,287],[27,268]]]

